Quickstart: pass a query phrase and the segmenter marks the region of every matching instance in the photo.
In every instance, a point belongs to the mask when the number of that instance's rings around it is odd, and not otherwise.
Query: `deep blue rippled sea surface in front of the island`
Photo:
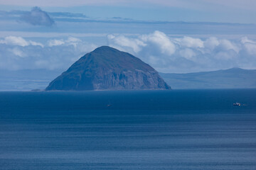
[[[0,169],[254,170],[256,89],[1,91]]]

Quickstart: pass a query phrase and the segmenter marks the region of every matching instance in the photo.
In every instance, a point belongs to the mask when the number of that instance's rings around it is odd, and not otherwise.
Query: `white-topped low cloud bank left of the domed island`
[[[50,39],[41,43],[9,36],[0,39],[0,69],[65,70],[96,47],[74,37]]]

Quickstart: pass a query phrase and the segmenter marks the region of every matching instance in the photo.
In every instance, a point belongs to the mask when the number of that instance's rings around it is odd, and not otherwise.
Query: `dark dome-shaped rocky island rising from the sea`
[[[171,89],[149,64],[127,52],[99,47],[50,82],[46,91]]]

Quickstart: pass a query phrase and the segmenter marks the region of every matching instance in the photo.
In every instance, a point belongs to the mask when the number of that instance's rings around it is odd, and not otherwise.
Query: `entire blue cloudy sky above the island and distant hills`
[[[68,69],[102,45],[159,72],[256,69],[256,1],[0,0],[0,70]]]

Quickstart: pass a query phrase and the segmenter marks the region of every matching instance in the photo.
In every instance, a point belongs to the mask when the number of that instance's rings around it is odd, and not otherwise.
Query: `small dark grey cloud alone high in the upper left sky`
[[[30,23],[33,26],[53,26],[53,18],[50,18],[46,11],[42,11],[41,8],[35,6],[26,13],[23,13],[19,18],[19,21]]]

